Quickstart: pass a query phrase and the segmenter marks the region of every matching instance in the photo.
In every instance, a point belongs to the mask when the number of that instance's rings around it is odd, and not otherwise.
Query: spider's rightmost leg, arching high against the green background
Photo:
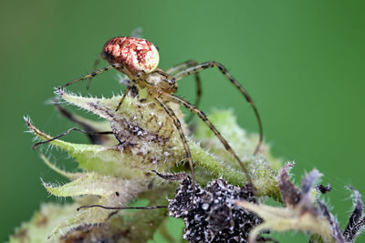
[[[179,72],[179,73],[177,73],[175,75],[176,81],[182,79],[185,76],[190,76],[192,74],[199,73],[203,69],[211,68],[211,67],[218,67],[218,69],[221,71],[221,73],[224,74],[224,76],[241,92],[241,94],[243,96],[245,96],[246,101],[254,109],[255,116],[256,116],[256,119],[257,119],[257,123],[258,123],[258,128],[259,128],[259,136],[260,136],[259,137],[258,145],[255,148],[255,152],[254,152],[254,155],[257,154],[257,152],[259,151],[259,149],[261,147],[261,144],[263,142],[263,139],[264,139],[264,133],[263,133],[263,127],[262,127],[261,118],[260,118],[260,116],[258,114],[258,111],[257,111],[257,108],[255,106],[254,100],[251,98],[251,96],[248,95],[247,91],[245,91],[245,88],[243,86],[241,86],[235,80],[235,78],[227,71],[227,69],[222,64],[217,63],[217,62],[214,62],[214,61],[211,61],[211,62],[205,62],[205,63],[200,64],[200,65],[197,65],[197,66],[192,66],[192,67],[186,68],[182,72]]]

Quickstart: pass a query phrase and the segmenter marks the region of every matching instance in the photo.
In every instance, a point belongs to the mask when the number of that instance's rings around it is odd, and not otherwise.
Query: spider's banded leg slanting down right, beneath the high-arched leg
[[[191,103],[189,103],[188,101],[184,100],[183,98],[181,98],[179,96],[174,96],[174,95],[169,95],[169,94],[163,94],[163,96],[166,96],[166,99],[169,99],[172,102],[185,106],[188,110],[190,110],[194,114],[198,115],[203,120],[203,122],[206,124],[206,126],[208,126],[214,132],[215,136],[218,137],[219,140],[221,140],[225,149],[233,157],[235,157],[235,160],[237,160],[239,165],[242,167],[242,169],[245,173],[245,177],[248,180],[248,183],[254,186],[247,168],[244,166],[241,159],[237,156],[237,154],[235,153],[235,150],[228,144],[227,140],[225,140],[225,138],[221,135],[221,133],[214,127],[214,125],[211,123],[211,121],[208,119],[208,117],[203,113],[203,111],[201,111],[200,109],[193,106]]]

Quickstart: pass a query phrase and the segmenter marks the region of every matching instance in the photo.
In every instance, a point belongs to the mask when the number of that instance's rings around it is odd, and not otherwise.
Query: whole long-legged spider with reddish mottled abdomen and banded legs
[[[195,177],[193,173],[193,158],[190,152],[190,148],[183,133],[180,120],[175,115],[172,108],[167,105],[168,102],[174,102],[181,106],[185,106],[193,114],[199,116],[203,120],[203,122],[214,132],[214,135],[220,139],[225,149],[233,157],[235,157],[239,165],[242,167],[248,183],[252,184],[252,179],[241,159],[237,156],[235,151],[224,139],[221,133],[209,121],[207,116],[205,116],[203,111],[201,111],[197,107],[197,104],[199,103],[201,97],[201,82],[198,73],[207,68],[217,67],[221,71],[221,73],[241,92],[241,94],[245,96],[245,100],[253,108],[259,127],[259,142],[257,147],[255,148],[254,155],[259,151],[259,148],[263,141],[263,128],[261,118],[258,114],[255,103],[251,96],[249,96],[248,93],[245,91],[244,87],[235,80],[235,78],[227,71],[227,69],[222,64],[215,61],[197,64],[195,61],[190,60],[180,65],[172,66],[166,71],[163,71],[161,68],[158,67],[160,57],[157,48],[153,46],[151,42],[145,39],[128,36],[118,36],[111,38],[105,44],[101,52],[101,56],[110,64],[110,66],[106,66],[97,71],[93,71],[89,75],[71,81],[62,87],[75,84],[81,80],[92,78],[111,69],[117,69],[121,73],[128,76],[130,82],[123,96],[121,96],[120,98],[120,102],[119,105],[116,107],[116,111],[120,108],[120,105],[122,104],[124,98],[130,93],[130,91],[133,91],[136,88],[147,88],[148,95],[151,96],[151,98],[153,98],[160,106],[162,106],[166,113],[172,118],[173,124],[182,139],[184,152],[186,154],[186,158],[189,162],[192,173],[193,185],[195,182]],[[98,63],[99,61],[97,61],[94,66],[97,66]],[[177,92],[177,81],[185,76],[191,75],[195,75],[197,86],[197,97],[195,101],[195,106],[184,100],[183,98],[174,95],[174,93]],[[68,132],[70,130],[71,129],[69,129]],[[64,135],[66,135],[66,133]]]

